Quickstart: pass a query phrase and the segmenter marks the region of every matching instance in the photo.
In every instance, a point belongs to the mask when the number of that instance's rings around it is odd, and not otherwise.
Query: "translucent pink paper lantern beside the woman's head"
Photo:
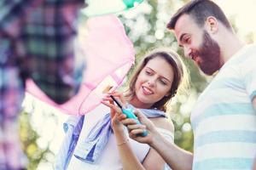
[[[86,70],[79,94],[63,105],[49,99],[32,80],[26,92],[70,115],[84,115],[101,103],[102,90],[118,88],[134,64],[135,50],[114,14],[90,18],[79,30],[78,54],[84,55]],[[83,61],[79,61],[83,62]]]

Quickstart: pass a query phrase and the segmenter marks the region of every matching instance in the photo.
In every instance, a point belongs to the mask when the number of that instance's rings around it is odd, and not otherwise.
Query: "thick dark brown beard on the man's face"
[[[211,76],[221,68],[220,48],[218,42],[214,41],[207,31],[204,31],[203,36],[201,47],[196,52],[196,56],[200,56],[200,59],[196,63],[201,71]]]

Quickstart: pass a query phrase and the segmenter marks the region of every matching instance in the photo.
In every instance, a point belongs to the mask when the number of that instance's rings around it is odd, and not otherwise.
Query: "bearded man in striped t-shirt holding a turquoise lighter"
[[[150,144],[172,169],[252,169],[256,156],[256,46],[241,42],[221,8],[210,0],[194,0],[172,16],[167,27],[189,59],[204,73],[218,72],[191,113],[194,154],[160,136],[142,114],[148,128],[129,126],[130,136]],[[125,125],[132,124],[129,119]]]

